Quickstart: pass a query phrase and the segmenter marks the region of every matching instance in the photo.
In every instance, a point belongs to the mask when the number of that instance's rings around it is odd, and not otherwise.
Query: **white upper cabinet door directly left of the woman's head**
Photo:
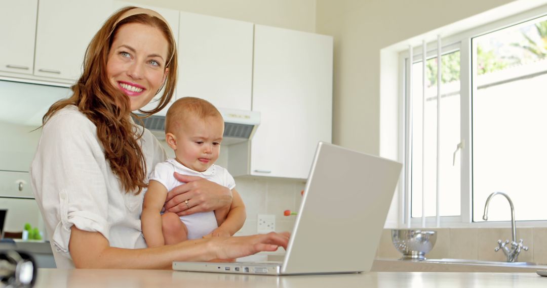
[[[112,11],[112,0],[40,0],[34,75],[77,80],[85,50]]]

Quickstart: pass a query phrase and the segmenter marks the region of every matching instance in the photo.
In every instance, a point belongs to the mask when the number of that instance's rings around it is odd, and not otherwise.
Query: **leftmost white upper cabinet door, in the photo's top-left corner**
[[[32,74],[38,0],[0,2],[0,70]]]

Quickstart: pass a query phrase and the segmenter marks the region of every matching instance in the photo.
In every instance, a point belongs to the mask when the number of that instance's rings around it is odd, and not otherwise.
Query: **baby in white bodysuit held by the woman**
[[[144,194],[141,225],[148,247],[201,237],[232,236],[243,226],[245,206],[234,189],[234,178],[223,167],[214,165],[220,153],[223,134],[222,115],[206,100],[181,98],[167,111],[165,140],[174,150],[175,158],[155,166]],[[200,176],[228,187],[232,191],[229,210],[181,217],[172,212],[161,214],[167,192],[184,184],[173,177],[173,172]],[[187,200],[186,205],[190,208],[191,202]]]

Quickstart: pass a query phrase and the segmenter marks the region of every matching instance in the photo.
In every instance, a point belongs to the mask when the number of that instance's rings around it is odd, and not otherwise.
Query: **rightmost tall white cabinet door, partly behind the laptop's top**
[[[333,39],[255,25],[251,175],[307,178],[318,141],[331,141]]]

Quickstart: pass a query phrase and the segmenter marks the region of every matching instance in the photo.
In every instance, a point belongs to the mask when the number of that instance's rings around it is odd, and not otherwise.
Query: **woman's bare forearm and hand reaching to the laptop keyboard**
[[[170,269],[173,261],[233,259],[287,248],[289,233],[194,239],[144,249],[110,247],[101,233],[71,227],[69,251],[77,268]]]

